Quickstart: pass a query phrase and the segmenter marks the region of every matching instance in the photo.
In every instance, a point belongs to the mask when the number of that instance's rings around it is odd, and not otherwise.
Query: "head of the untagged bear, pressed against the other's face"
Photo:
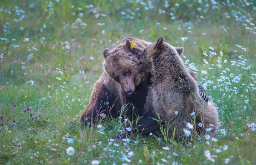
[[[184,51],[184,48],[173,47],[168,43],[165,43],[162,36],[159,37],[156,43],[151,43],[143,50],[143,54],[141,55],[142,57],[139,57],[140,59],[142,59],[142,64],[138,68],[139,72],[150,72],[152,69],[154,58],[158,57],[161,51],[172,51],[173,53],[181,55]]]

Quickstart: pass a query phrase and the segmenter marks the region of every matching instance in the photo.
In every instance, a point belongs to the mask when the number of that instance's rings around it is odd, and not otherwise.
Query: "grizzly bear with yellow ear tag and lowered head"
[[[93,124],[102,113],[120,116],[122,106],[128,103],[122,114],[131,116],[134,110],[137,116],[142,116],[148,85],[151,85],[151,72],[139,73],[138,67],[143,50],[149,44],[145,40],[127,37],[113,50],[106,48],[103,51],[105,71],[94,84],[90,102],[80,117],[82,122]],[[191,74],[196,78],[194,73]],[[200,92],[204,94],[202,87]]]

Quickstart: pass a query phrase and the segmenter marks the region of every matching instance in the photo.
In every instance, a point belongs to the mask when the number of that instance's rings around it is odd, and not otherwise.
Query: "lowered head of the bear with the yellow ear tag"
[[[140,84],[142,76],[138,67],[141,62],[138,58],[143,54],[144,48],[145,46],[134,46],[131,40],[126,39],[113,50],[106,48],[103,51],[106,73],[115,82],[120,83],[128,95],[133,94],[135,86]]]

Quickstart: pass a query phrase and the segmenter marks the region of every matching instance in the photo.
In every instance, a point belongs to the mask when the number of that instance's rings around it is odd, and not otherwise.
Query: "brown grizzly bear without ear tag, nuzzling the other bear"
[[[198,82],[180,58],[183,48],[175,48],[163,41],[164,38],[159,37],[157,43],[152,43],[143,52],[139,70],[151,71],[152,85],[148,90],[143,119],[137,122],[137,129],[143,134],[160,130],[159,115],[163,125],[171,122],[169,135],[179,139],[195,112],[193,117],[198,132],[205,131],[204,128],[215,131],[219,125],[218,112],[213,102],[206,102],[199,95]],[[198,126],[199,123],[204,126]]]

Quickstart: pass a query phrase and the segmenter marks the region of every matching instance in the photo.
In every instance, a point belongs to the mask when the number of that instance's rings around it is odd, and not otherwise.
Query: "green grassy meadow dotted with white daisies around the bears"
[[[255,17],[253,0],[1,0],[0,164],[255,165]],[[82,127],[104,48],[159,36],[185,48],[220,130],[115,141],[119,118]]]

